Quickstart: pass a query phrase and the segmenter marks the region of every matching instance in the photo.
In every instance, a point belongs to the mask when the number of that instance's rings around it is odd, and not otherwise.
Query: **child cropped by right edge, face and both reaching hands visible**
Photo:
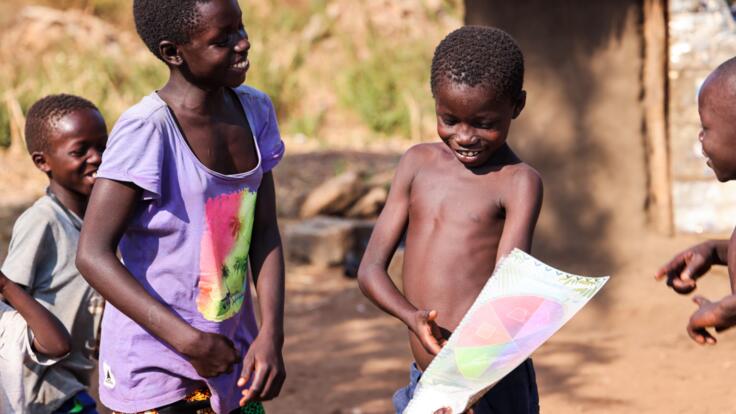
[[[736,58],[716,68],[705,79],[698,95],[699,139],[707,164],[720,182],[736,180]],[[736,325],[736,230],[731,240],[709,240],[677,254],[656,274],[680,294],[695,290],[696,280],[711,266],[728,266],[731,294],[711,302],[694,296],[699,309],[690,317],[687,332],[701,345],[715,344],[709,328],[721,332]]]

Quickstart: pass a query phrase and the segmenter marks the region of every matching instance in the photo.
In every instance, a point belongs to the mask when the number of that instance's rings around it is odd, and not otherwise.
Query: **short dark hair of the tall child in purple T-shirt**
[[[162,40],[186,44],[201,23],[197,5],[209,0],[134,0],[133,18],[138,35],[148,49],[163,60]]]

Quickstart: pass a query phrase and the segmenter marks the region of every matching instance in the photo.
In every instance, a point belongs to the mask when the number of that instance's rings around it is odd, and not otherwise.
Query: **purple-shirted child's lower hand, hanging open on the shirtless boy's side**
[[[267,401],[278,397],[286,380],[284,358],[280,342],[268,335],[259,334],[248,349],[243,360],[243,372],[238,379],[238,387],[245,387],[253,379],[250,387],[242,391],[240,406],[249,401]]]

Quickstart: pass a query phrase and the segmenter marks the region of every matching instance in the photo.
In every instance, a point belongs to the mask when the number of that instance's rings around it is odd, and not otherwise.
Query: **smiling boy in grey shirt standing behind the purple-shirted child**
[[[26,364],[24,412],[95,413],[87,387],[96,366],[102,298],[74,261],[107,127],[94,104],[62,94],[33,104],[25,131],[28,152],[49,186],[15,222],[2,272],[61,321],[72,346],[57,364]]]

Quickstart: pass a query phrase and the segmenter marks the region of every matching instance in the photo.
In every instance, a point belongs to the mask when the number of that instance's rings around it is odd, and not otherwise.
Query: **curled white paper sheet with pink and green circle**
[[[459,414],[524,362],[606,284],[565,273],[515,249],[434,358],[403,414]]]

